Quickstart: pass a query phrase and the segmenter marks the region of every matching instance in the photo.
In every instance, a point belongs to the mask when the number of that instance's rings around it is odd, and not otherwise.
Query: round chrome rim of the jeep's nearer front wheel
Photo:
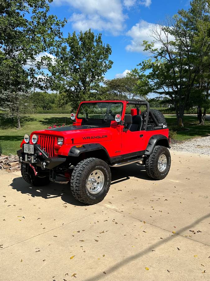
[[[100,170],[94,170],[87,179],[87,189],[91,194],[99,193],[104,187],[104,174]]]

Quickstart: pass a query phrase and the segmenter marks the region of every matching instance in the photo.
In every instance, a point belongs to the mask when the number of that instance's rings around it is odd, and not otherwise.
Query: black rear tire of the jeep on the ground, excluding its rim
[[[158,169],[158,159],[162,154],[166,155],[167,158],[166,169],[163,172]],[[146,157],[145,159],[145,168],[147,175],[154,180],[164,179],[166,175],[168,175],[168,172],[170,170],[170,164],[170,152],[167,147],[161,145],[156,145],[154,150],[152,151],[152,154]]]

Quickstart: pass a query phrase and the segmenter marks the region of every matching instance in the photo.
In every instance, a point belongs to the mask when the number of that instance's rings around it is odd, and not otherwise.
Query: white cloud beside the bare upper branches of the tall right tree
[[[130,36],[131,43],[126,46],[126,50],[130,52],[143,52],[144,47],[142,47],[143,40],[148,42],[155,41],[151,35],[151,29],[156,29],[157,32],[161,33],[161,37],[164,40],[165,35],[161,32],[161,27],[159,24],[146,22],[141,20],[136,23],[131,29],[126,33],[127,36]],[[169,40],[173,40],[172,36],[169,37]],[[155,48],[159,48],[161,44],[155,41]]]

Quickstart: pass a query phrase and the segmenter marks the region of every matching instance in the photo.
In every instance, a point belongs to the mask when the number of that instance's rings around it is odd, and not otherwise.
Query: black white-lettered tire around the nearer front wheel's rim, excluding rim
[[[100,170],[104,175],[104,185],[102,190],[97,194],[91,194],[87,188],[87,179],[92,171]],[[70,188],[72,195],[80,202],[93,205],[104,199],[110,189],[111,172],[110,167],[101,159],[87,158],[79,162],[71,176]]]

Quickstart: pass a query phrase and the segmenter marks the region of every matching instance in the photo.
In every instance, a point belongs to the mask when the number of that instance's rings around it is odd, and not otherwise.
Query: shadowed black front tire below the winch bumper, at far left
[[[50,183],[49,176],[42,176],[40,177],[39,175],[34,174],[34,171],[31,167],[28,167],[29,173],[26,172],[26,163],[21,163],[21,175],[23,179],[34,186],[43,186],[43,185],[48,185]]]

